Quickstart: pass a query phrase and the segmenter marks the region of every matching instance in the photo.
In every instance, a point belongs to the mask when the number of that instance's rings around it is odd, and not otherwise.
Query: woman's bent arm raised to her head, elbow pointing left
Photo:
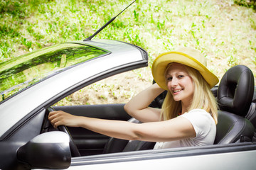
[[[125,106],[124,110],[133,118],[146,123],[160,120],[161,109],[150,108],[149,104],[164,91],[158,84],[153,84],[149,88],[141,91],[132,98]]]

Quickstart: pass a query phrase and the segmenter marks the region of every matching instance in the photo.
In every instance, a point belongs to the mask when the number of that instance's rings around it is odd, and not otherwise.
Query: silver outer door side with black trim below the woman
[[[69,169],[255,169],[252,142],[74,158]]]

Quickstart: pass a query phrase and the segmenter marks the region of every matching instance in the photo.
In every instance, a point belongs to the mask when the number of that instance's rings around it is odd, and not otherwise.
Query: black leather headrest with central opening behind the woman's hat
[[[228,111],[245,116],[252,103],[254,77],[252,71],[237,65],[228,69],[218,87],[218,105],[220,111]]]

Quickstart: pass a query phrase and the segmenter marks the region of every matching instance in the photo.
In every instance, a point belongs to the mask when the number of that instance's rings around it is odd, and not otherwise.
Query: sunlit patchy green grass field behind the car
[[[83,40],[129,2],[0,0],[0,62],[60,42]],[[126,102],[151,84],[154,58],[178,46],[203,52],[210,70],[219,78],[237,64],[250,67],[256,76],[256,13],[233,0],[139,0],[95,39],[122,40],[143,47],[149,52],[149,68],[121,76],[126,81],[121,77],[100,81],[59,105]],[[127,88],[122,81],[131,86]],[[103,94],[93,95],[99,91]]]

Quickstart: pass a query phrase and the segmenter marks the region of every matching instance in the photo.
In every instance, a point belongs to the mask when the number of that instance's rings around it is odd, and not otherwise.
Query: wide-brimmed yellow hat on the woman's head
[[[206,68],[206,57],[201,52],[187,47],[181,47],[176,51],[165,52],[153,62],[152,75],[162,89],[167,90],[165,71],[169,63],[176,62],[197,69],[210,85],[210,88],[218,84],[218,77]]]

